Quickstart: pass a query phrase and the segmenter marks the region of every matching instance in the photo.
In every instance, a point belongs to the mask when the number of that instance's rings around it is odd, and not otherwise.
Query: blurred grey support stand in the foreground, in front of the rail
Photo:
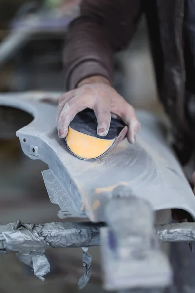
[[[164,288],[172,270],[154,233],[154,212],[147,201],[117,187],[105,209],[101,229],[104,288]],[[160,264],[160,266],[159,266]]]

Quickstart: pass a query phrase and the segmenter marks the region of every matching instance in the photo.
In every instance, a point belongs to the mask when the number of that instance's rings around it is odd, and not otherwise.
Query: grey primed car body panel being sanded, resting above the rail
[[[136,144],[124,140],[97,160],[83,161],[74,157],[58,137],[56,106],[19,97],[0,95],[0,106],[17,108],[34,117],[17,131],[17,136],[27,156],[48,165],[53,178],[52,188],[48,188],[50,197],[62,210],[69,210],[64,192],[77,214],[93,222],[104,221],[104,208],[113,190],[124,185],[137,197],[148,200],[155,211],[183,209],[195,219],[195,196],[155,115],[137,111],[142,128]]]

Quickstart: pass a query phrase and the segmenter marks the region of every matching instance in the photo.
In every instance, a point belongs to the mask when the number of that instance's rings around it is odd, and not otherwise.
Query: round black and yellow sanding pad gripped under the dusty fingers
[[[122,141],[127,134],[127,126],[112,118],[107,136],[97,134],[97,119],[93,110],[78,113],[69,125],[66,143],[69,150],[83,160],[96,159]]]

